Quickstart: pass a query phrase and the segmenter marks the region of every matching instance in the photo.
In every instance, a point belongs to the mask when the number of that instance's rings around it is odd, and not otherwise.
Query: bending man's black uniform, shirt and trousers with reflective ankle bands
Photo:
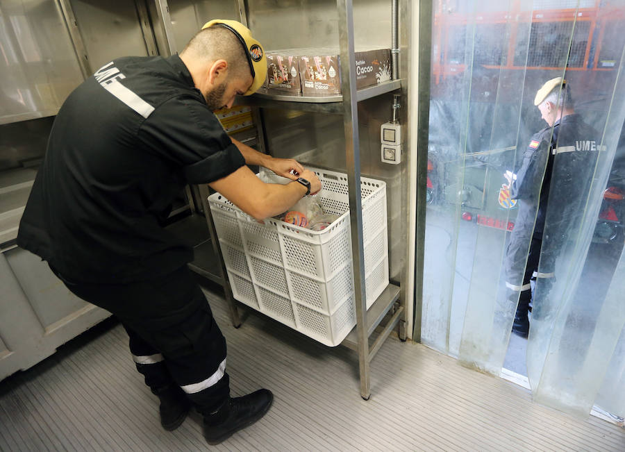
[[[59,110],[17,237],[121,319],[153,392],[173,378],[208,412],[229,394],[226,342],[186,268],[192,249],[160,221],[186,183],[242,165],[178,56],[119,58]]]

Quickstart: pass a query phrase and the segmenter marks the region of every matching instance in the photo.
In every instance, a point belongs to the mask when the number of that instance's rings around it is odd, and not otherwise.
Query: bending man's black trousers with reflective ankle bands
[[[226,339],[186,266],[124,284],[76,283],[52,271],[76,296],[122,322],[135,365],[152,390],[178,385],[203,413],[228,399]]]

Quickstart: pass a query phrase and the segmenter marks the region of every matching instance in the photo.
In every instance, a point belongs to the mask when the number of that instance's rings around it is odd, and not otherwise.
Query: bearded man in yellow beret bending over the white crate
[[[208,22],[180,56],[98,69],[58,112],[17,237],[122,321],[163,427],[177,428],[192,403],[210,444],[263,417],[273,395],[230,397],[226,341],[186,266],[192,249],[160,223],[188,183],[210,184],[256,219],[320,190],[313,172],[231,140],[213,115],[258,90],[266,71],[260,43],[228,20]],[[246,163],[293,182],[263,183]]]

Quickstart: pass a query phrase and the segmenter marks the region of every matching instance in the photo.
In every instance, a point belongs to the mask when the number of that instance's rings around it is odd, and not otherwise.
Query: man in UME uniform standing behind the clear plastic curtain
[[[529,332],[531,278],[536,273],[545,292],[551,287],[556,257],[581,211],[601,146],[597,131],[574,112],[562,77],[545,83],[534,105],[548,126],[533,135],[521,168],[508,176],[510,197],[520,203],[506,252],[506,287],[510,303],[518,300],[512,331],[522,337]],[[549,204],[550,235],[543,237],[550,196],[558,202]]]

